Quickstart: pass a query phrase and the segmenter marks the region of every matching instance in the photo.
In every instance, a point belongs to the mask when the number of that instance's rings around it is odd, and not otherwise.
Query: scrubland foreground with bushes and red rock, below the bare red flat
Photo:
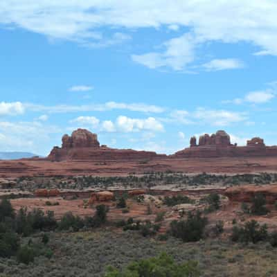
[[[276,174],[19,178],[0,276],[276,276]]]

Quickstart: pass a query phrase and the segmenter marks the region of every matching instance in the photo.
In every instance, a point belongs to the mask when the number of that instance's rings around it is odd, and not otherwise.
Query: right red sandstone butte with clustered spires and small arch
[[[197,139],[190,139],[190,148],[176,152],[179,158],[213,158],[213,157],[267,157],[277,156],[276,146],[266,146],[263,139],[253,138],[246,146],[231,144],[230,136],[224,131],[216,134],[204,134]]]

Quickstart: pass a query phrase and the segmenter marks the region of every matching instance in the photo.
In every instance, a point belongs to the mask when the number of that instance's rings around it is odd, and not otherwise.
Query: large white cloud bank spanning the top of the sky
[[[195,50],[206,42],[247,42],[256,55],[277,55],[277,3],[274,0],[222,1],[100,1],[1,0],[0,24],[24,28],[50,39],[69,39],[88,46],[109,46],[129,39],[136,28],[188,33],[168,40],[166,50],[133,55],[150,68],[170,66],[180,70],[195,61]],[[109,28],[111,35],[102,32]],[[101,30],[101,31],[100,31]],[[109,32],[107,32],[109,33]],[[189,39],[193,37],[193,39]],[[171,51],[173,49],[173,51]]]

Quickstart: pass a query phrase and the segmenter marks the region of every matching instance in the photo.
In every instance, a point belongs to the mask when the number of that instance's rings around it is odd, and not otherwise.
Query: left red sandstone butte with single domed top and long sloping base
[[[71,160],[143,160],[166,157],[155,152],[135,151],[131,149],[119,150],[108,148],[106,145],[100,146],[97,134],[93,134],[86,129],[77,129],[71,136],[65,134],[62,137],[62,148],[55,146],[48,155],[51,161],[71,161]]]

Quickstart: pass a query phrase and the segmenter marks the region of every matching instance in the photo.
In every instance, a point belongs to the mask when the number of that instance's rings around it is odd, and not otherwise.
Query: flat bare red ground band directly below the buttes
[[[277,157],[154,159],[141,161],[62,161],[43,159],[0,161],[0,177],[21,176],[118,176],[130,172],[253,173],[277,172]]]

